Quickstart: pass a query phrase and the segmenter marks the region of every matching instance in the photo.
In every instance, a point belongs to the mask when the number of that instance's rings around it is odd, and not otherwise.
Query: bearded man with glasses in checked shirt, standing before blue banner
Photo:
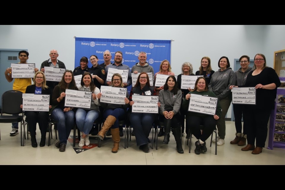
[[[122,60],[123,60],[123,53],[121,51],[117,51],[115,53],[115,63],[114,64],[110,64],[106,67],[106,73],[108,75],[108,69],[109,68],[115,68],[115,69],[128,69],[130,70],[129,66],[125,65],[125,64],[122,64]],[[107,81],[107,80],[106,80]],[[112,81],[107,81],[106,84],[108,86],[110,86],[112,83]],[[127,87],[129,85],[132,85],[132,75],[131,75],[131,72],[129,72],[128,74],[128,81],[127,83],[124,83],[124,87]]]

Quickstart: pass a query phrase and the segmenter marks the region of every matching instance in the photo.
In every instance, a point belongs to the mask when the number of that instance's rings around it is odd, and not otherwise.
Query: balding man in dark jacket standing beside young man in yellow
[[[58,51],[57,50],[50,50],[50,59],[42,62],[41,71],[45,72],[45,66],[66,69],[64,63],[59,61],[57,59],[57,57],[58,57]],[[53,91],[53,88],[56,85],[58,85],[58,82],[47,81],[46,84],[47,84],[48,87],[50,87],[51,91]]]

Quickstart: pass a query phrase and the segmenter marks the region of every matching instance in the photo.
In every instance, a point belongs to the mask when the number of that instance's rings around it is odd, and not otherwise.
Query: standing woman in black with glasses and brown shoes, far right
[[[246,105],[244,118],[247,128],[247,145],[242,151],[259,154],[265,146],[267,123],[274,109],[277,88],[281,85],[275,70],[266,66],[265,56],[258,53],[254,57],[253,70],[248,73],[246,87],[256,88],[256,105]],[[238,86],[230,86],[232,87]],[[256,147],[254,146],[256,140]]]

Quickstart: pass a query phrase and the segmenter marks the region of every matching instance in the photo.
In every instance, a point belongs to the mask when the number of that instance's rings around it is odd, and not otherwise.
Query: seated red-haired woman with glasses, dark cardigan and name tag
[[[137,83],[134,85],[131,95],[130,95],[130,106],[134,105],[132,101],[132,95],[156,95],[154,87],[150,85],[148,74],[141,72],[138,76]],[[160,105],[160,104],[159,104]],[[130,108],[131,110],[131,108]],[[129,120],[132,127],[134,128],[134,134],[136,136],[137,146],[140,146],[140,150],[147,153],[149,152],[148,148],[148,136],[151,132],[153,122],[155,121],[157,114],[153,113],[131,113]]]

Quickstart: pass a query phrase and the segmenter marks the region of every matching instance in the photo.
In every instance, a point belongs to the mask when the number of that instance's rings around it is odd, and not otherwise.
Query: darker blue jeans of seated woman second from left
[[[63,112],[61,108],[55,108],[51,113],[51,116],[57,120],[58,138],[60,144],[66,144],[70,135],[71,129],[75,124],[75,113],[73,110]]]

